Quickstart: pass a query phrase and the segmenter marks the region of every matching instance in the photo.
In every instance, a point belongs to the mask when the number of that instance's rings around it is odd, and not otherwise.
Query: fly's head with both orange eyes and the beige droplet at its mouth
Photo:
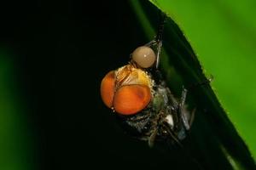
[[[131,62],[102,79],[101,94],[105,105],[119,115],[131,116],[142,111],[151,102],[154,80],[146,68],[154,64],[151,48],[137,48]]]

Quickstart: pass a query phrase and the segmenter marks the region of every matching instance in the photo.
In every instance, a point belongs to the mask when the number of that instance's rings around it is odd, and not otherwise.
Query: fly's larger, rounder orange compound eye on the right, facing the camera
[[[150,89],[145,85],[127,85],[114,94],[113,107],[121,115],[134,115],[150,102]]]

